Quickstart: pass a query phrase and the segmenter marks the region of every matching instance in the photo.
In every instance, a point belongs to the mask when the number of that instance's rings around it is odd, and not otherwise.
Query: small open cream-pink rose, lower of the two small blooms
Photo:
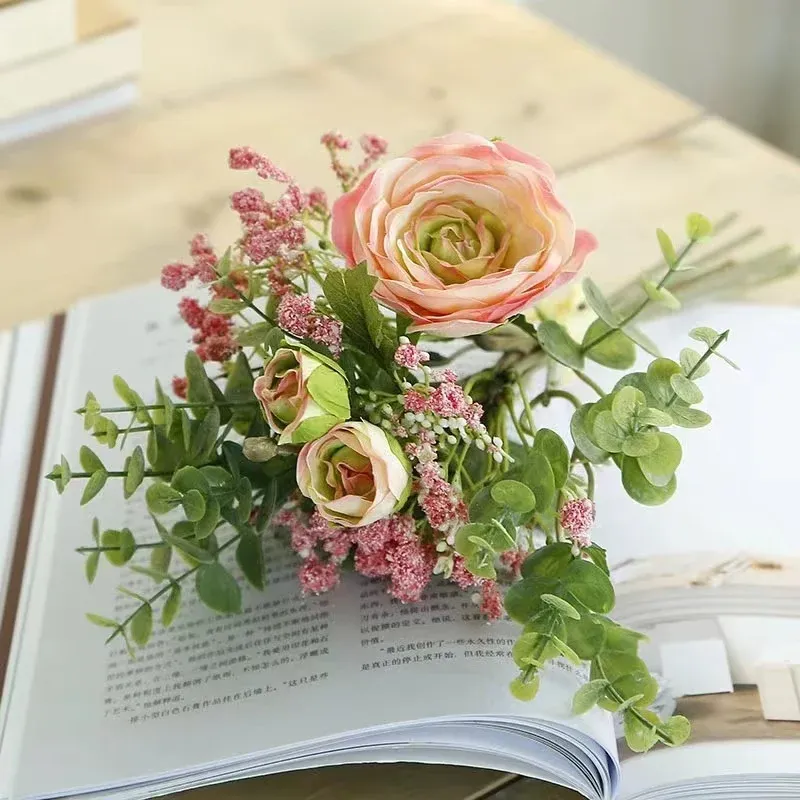
[[[391,516],[406,501],[411,466],[382,428],[345,422],[300,451],[297,487],[322,517],[356,528]]]

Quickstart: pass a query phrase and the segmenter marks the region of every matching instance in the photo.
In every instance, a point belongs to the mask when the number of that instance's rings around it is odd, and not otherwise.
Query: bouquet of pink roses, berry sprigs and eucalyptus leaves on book
[[[356,164],[341,135],[322,142],[343,189],[332,206],[253,150],[231,151],[233,169],[280,190],[235,192],[238,241],[217,254],[198,236],[189,263],[164,268],[166,288],[193,284],[179,303],[193,331],[185,373],[171,393],[156,381],[154,402],[117,377],[122,405],[90,392],[79,410],[96,443],[127,448],[124,468],[86,446],[81,471],[62,458],[48,477],[59,491],[85,480],[82,503],[118,478],[126,499],[144,492],[153,526],[145,536],[95,520],[80,548],[88,580],[102,556],[154,589],[125,619],[90,621],[109,641],[144,646],[157,612],[172,623],[190,579],[208,607],[236,612],[236,576],[265,588],[274,538],[297,554],[305,593],[335,590],[348,571],[402,603],[433,581],[455,583],[487,620],[519,623],[517,698],[536,695],[553,659],[586,664],[576,714],[620,712],[634,750],[683,742],[687,720],[650,709],[657,684],[637,655],[642,637],[609,616],[594,475],[616,470],[634,502],[663,503],[681,461],[669,431],[710,420],[697,380],[725,358],[727,332],[695,328],[699,345],[673,360],[634,321],[651,304],[678,305],[670,280],[692,268],[711,225],[691,214],[677,249],[658,231],[663,267],[632,308],[585,280],[593,316],[576,339],[559,303],[541,301],[596,243],[557,199],[546,163],[463,133],[377,167],[378,137],[362,138]],[[640,349],[652,360],[629,371]],[[488,366],[457,374],[453,362],[473,352]],[[590,361],[624,374],[604,388],[584,371]],[[592,401],[551,379],[534,393],[532,375],[554,365],[588,384]],[[566,439],[537,421],[555,402],[572,408]]]

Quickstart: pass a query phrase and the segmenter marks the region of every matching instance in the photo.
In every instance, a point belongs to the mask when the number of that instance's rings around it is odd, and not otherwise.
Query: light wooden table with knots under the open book
[[[227,171],[227,149],[250,144],[318,183],[327,173],[317,139],[330,128],[381,133],[395,152],[454,128],[537,152],[560,173],[580,226],[598,236],[590,269],[606,285],[652,262],[653,229],[679,231],[691,210],[738,211],[775,241],[800,245],[794,161],[501,0],[139,0],[139,9],[139,107],[0,152],[3,327],[151,279],[198,230],[231,238],[227,195],[242,176]],[[800,281],[758,298],[800,302]],[[744,703],[761,730],[752,693],[734,698],[739,710],[723,729],[744,730]],[[689,705],[702,702],[730,703]],[[489,796],[576,797],[480,770],[408,765],[181,795]]]

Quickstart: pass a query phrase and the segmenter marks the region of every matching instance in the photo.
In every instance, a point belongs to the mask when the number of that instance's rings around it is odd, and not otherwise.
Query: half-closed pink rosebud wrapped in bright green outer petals
[[[270,428],[280,434],[279,444],[309,442],[350,416],[339,365],[299,345],[276,351],[253,392]]]

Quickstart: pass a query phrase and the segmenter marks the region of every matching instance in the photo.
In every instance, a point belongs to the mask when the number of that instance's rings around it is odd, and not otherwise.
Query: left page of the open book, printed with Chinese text
[[[110,379],[119,372],[148,397],[155,376],[167,384],[181,371],[187,333],[175,300],[146,287],[72,315],[51,461],[60,452],[74,458],[86,442],[72,409],[88,389],[101,402],[113,402]],[[95,449],[113,464],[108,451]],[[615,750],[606,714],[572,717],[578,685],[572,668],[545,675],[532,704],[511,697],[507,684],[516,670],[510,648],[518,628],[487,625],[468,593],[434,587],[425,603],[402,606],[381,585],[354,576],[328,596],[303,600],[293,556],[277,550],[268,591],[246,591],[244,614],[217,617],[187,587],[173,629],[163,632],[157,625],[151,643],[131,661],[118,643],[106,647],[104,631],[83,613],[123,615],[130,601],[115,599],[115,587],[139,576],[101,564],[90,587],[74,548],[91,543],[95,515],[104,528],[128,525],[146,537],[152,531],[148,540],[155,531],[144,516],[142,490],[138,503],[125,503],[121,487],[112,483],[80,508],[81,488],[76,481],[63,498],[52,487],[45,493],[32,577],[34,593],[46,597],[31,603],[25,636],[37,637],[38,644],[17,670],[15,693],[24,710],[13,719],[24,720],[24,727],[12,762],[13,797],[200,771],[349,730],[460,715],[555,720],[593,737],[609,753]],[[138,587],[146,594],[152,592],[148,582],[142,579]],[[323,743],[306,752],[325,749]]]

